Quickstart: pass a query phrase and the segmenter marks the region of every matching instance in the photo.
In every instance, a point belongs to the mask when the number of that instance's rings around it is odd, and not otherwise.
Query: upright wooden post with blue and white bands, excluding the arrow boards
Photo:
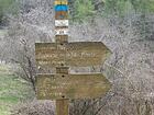
[[[58,9],[55,9],[55,30],[57,28],[61,30],[61,31],[56,31],[55,33],[56,34],[55,39],[57,46],[68,42],[67,33],[65,33],[65,31],[62,30],[63,27],[68,28],[68,20],[67,20],[68,11],[66,9],[61,9],[61,4],[63,4],[62,7],[64,8],[68,8],[67,3],[68,3],[67,0],[61,0],[61,1],[55,0],[55,7],[59,7]],[[68,69],[69,68],[64,67],[64,65],[62,64],[62,67],[56,68],[56,73],[68,74]],[[62,97],[64,99],[56,100],[56,115],[68,115],[69,100],[65,99],[65,95],[63,95]]]

